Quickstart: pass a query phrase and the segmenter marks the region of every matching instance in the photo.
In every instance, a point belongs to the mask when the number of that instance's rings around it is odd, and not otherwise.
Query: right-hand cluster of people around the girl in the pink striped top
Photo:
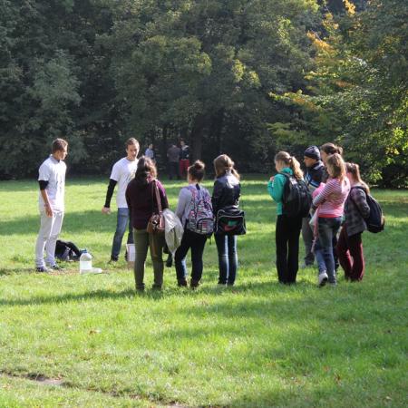
[[[342,148],[333,143],[320,149],[308,147],[305,175],[296,158],[286,151],[275,157],[277,175],[270,178],[267,189],[277,201],[277,276],[283,284],[296,282],[300,231],[305,243],[304,267],[312,266],[316,258],[320,287],[336,285],[339,263],[347,280],[364,277],[362,233],[367,228],[364,219],[370,214],[369,188],[361,179],[358,164],[345,163],[342,154]],[[313,201],[306,217],[288,216],[283,211],[285,175],[304,180],[310,190]]]

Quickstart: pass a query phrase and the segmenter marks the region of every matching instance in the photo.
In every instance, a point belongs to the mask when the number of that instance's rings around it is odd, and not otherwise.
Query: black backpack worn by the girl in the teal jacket
[[[287,173],[279,174],[286,178],[282,194],[282,213],[287,217],[306,217],[312,206],[312,194],[306,182]]]

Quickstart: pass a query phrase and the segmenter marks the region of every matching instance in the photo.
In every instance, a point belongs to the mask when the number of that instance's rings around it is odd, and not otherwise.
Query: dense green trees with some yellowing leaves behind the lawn
[[[366,180],[407,187],[404,0],[0,0],[0,180],[55,137],[71,174],[105,174],[136,137],[165,166],[227,152],[270,172],[334,141]]]

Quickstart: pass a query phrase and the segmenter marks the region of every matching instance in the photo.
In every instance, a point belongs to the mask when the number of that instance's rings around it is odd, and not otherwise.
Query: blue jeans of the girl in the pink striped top
[[[342,223],[341,217],[337,217],[335,219],[324,219],[322,217],[319,217],[318,219],[319,228],[318,245],[320,246],[320,249],[318,249],[316,253],[317,265],[319,266],[320,270],[320,267],[323,267],[323,265],[321,265],[321,261],[324,260],[328,281],[329,283],[334,284],[335,284],[335,255],[333,252],[333,238],[337,235],[341,223]],[[320,254],[318,254],[319,251],[321,251],[323,259],[322,257],[320,257]]]

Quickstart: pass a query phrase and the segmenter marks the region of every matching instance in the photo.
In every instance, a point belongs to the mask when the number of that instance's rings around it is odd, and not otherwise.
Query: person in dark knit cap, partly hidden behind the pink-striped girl
[[[322,176],[325,166],[320,160],[320,151],[317,146],[309,146],[303,153],[306,166],[305,182],[311,193],[319,187],[322,182]],[[311,267],[315,262],[315,255],[312,252],[313,230],[309,225],[310,216],[302,221],[302,238],[305,244],[305,262],[302,267]]]

